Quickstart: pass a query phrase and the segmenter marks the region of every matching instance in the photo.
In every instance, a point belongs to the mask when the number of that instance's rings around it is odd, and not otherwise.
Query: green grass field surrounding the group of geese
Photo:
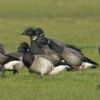
[[[27,27],[81,48],[100,64],[100,0],[1,0],[0,42],[7,52],[28,41]],[[0,78],[0,100],[100,100],[100,68],[40,78],[26,69]]]

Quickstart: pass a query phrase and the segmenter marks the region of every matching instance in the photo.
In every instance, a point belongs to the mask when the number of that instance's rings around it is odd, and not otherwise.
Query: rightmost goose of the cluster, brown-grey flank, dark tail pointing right
[[[28,31],[25,30],[23,34],[30,34],[30,33],[31,33],[31,37],[33,36],[33,39],[41,37],[42,39],[40,39],[39,43],[42,44],[46,43],[50,47],[50,49],[54,50],[56,53],[61,55],[63,60],[66,62],[66,64],[69,65],[74,70],[78,70],[82,68],[82,66],[84,68],[87,68],[90,66],[95,67],[96,65],[98,65],[96,62],[85,57],[82,54],[81,50],[76,48],[75,46],[72,45],[65,46],[62,43],[58,43],[52,39],[44,37],[43,30],[40,28],[30,29]]]

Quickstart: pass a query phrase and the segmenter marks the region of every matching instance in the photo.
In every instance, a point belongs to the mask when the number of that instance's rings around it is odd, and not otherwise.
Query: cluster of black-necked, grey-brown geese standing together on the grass
[[[27,28],[21,35],[28,36],[30,44],[21,42],[16,52],[6,53],[4,45],[0,44],[2,76],[5,75],[6,70],[16,74],[24,67],[27,67],[30,73],[38,73],[42,76],[57,74],[62,70],[78,71],[98,66],[76,46],[45,37],[41,28]]]

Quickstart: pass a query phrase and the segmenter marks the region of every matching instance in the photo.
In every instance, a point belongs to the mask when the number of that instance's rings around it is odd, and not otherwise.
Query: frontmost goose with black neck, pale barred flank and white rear
[[[22,42],[20,47],[23,49],[23,63],[28,68],[30,73],[39,73],[41,75],[44,74],[57,74],[60,71],[66,69],[68,66],[57,66],[51,62],[48,55],[35,54],[33,55],[29,50],[24,49],[25,46],[28,49],[28,44],[26,42]],[[34,48],[35,49],[35,48]]]

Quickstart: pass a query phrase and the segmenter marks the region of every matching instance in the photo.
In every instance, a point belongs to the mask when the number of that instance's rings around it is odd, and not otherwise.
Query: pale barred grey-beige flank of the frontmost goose
[[[32,72],[40,73],[41,75],[49,73],[53,69],[53,64],[45,56],[35,55],[35,60],[30,67]]]

